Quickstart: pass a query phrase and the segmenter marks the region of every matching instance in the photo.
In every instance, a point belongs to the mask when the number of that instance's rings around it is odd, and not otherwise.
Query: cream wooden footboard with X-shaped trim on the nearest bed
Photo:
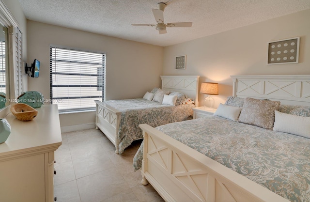
[[[142,184],[166,202],[288,202],[278,194],[147,125]]]

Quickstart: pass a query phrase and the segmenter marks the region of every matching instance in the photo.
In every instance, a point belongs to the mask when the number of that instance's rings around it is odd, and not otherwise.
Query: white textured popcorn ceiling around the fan
[[[27,19],[162,47],[310,9],[310,0],[19,0]],[[168,2],[165,23],[193,22],[159,34],[152,9]]]

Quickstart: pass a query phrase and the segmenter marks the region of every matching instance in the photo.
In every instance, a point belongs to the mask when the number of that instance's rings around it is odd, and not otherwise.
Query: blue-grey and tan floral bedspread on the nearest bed
[[[310,139],[217,116],[156,128],[292,202],[310,201]]]

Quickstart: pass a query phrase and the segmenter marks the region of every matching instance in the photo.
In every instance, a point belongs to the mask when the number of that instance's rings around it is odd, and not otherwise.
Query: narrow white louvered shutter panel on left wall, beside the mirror
[[[22,32],[18,28],[14,29],[15,36],[15,54],[14,54],[14,77],[15,77],[15,96],[23,93],[23,61],[22,61]]]

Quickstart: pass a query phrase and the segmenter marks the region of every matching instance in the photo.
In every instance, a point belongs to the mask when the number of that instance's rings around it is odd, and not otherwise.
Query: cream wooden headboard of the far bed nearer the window
[[[187,97],[195,100],[196,107],[198,102],[198,85],[200,76],[160,76],[161,89],[184,93]]]

